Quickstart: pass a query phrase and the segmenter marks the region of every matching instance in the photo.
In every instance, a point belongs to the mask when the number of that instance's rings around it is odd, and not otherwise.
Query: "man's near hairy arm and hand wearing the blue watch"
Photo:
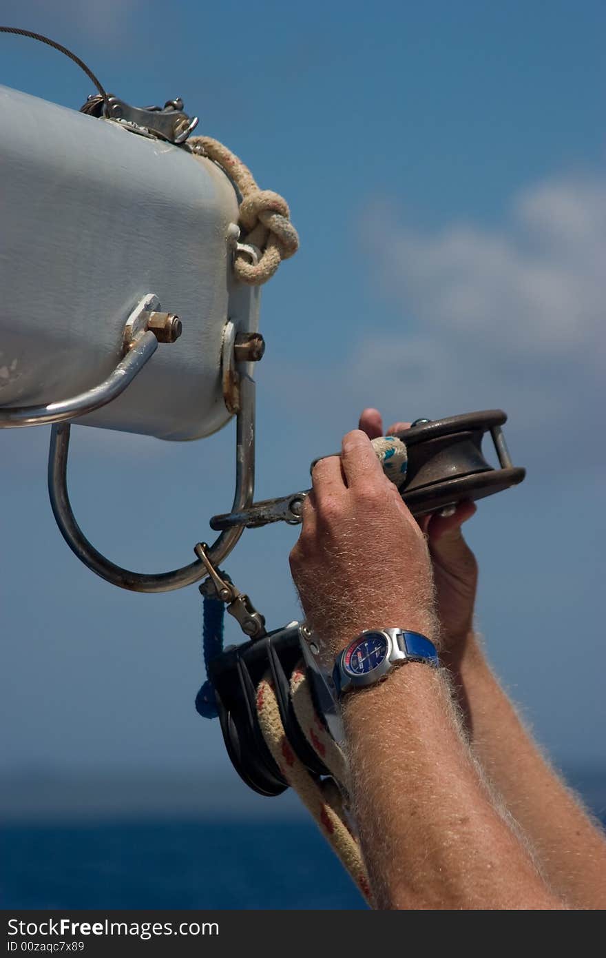
[[[364,628],[437,640],[424,536],[361,432],[322,460],[291,567],[326,663]],[[380,907],[559,908],[493,802],[442,673],[407,663],[344,706],[351,793]]]

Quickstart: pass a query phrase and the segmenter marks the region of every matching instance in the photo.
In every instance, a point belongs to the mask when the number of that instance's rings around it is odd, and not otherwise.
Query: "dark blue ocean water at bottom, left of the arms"
[[[0,856],[3,908],[366,907],[305,820],[14,824]]]

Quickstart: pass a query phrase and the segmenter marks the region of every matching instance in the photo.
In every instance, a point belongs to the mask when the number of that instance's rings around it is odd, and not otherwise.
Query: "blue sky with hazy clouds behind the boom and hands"
[[[24,2],[1,19],[131,103],[182,96],[288,199],[302,248],[263,291],[259,497],[301,488],[365,404],[507,410],[529,471],[469,525],[480,626],[555,760],[603,766],[604,5]],[[91,92],[58,54],[0,43],[0,82],[74,108]],[[87,534],[131,567],[189,560],[231,502],[232,428],[190,445],[75,430]],[[56,532],[48,430],[0,442],[5,767],[226,772],[192,707],[196,589],[98,580]],[[148,470],[179,495],[169,511],[144,484],[155,521],[126,533],[121,490]],[[295,536],[249,532],[227,563],[272,626],[297,615]]]

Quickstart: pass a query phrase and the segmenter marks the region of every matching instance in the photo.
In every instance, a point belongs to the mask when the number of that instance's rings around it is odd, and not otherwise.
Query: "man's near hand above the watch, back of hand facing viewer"
[[[293,579],[326,664],[365,628],[437,640],[425,537],[359,430],[320,460],[290,554]]]

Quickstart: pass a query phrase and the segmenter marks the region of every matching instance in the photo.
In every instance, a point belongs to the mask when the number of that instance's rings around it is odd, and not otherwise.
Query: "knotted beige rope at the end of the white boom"
[[[266,283],[281,261],[288,260],[299,249],[299,235],[290,221],[286,200],[273,190],[259,190],[248,167],[218,140],[210,136],[191,136],[188,145],[194,156],[206,156],[218,164],[241,196],[239,226],[243,231],[242,242],[257,246],[260,256],[257,263],[249,262],[246,252],[238,250],[234,264],[236,276],[248,285]]]

